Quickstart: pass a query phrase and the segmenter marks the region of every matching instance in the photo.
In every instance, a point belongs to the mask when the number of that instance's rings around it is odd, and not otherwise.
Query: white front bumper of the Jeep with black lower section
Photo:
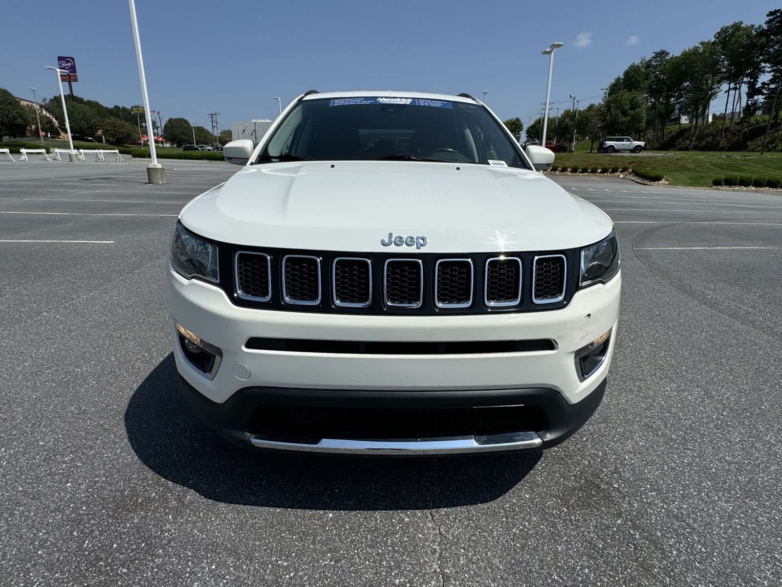
[[[453,316],[335,315],[240,308],[231,304],[220,288],[184,279],[170,269],[168,283],[170,330],[183,394],[202,420],[225,438],[266,448],[393,453],[401,449],[414,454],[545,448],[577,430],[597,409],[604,392],[615,344],[621,274],[607,284],[577,292],[571,303],[559,310]],[[177,322],[221,349],[221,364],[212,380],[185,358]],[[612,337],[604,362],[587,380],[579,380],[576,351],[608,331]],[[247,348],[246,342],[252,337],[365,342],[551,339],[554,349],[450,355],[291,352]],[[438,437],[450,445],[441,442],[432,447],[421,441],[420,434],[414,438],[391,434],[373,438],[371,446],[354,445],[345,438],[332,438],[335,443],[321,438],[327,442],[317,445],[312,438],[281,443],[253,430],[258,425],[253,420],[257,408],[267,405],[329,409],[371,406],[419,414],[423,413],[421,409],[438,406],[527,406],[536,416],[526,427],[511,430],[516,434],[512,438],[500,438],[493,432],[467,437],[450,434]],[[413,444],[402,446],[400,441]]]

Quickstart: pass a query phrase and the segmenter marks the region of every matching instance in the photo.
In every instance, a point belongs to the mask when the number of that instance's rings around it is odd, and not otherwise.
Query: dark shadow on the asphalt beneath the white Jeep
[[[423,510],[490,502],[541,452],[442,458],[242,451],[211,434],[182,400],[173,355],[132,395],[127,438],[146,466],[217,502],[300,510]]]

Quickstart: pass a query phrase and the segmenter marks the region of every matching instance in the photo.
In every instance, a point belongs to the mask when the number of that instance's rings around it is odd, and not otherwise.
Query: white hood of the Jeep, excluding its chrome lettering
[[[421,161],[244,167],[181,213],[193,232],[252,247],[480,253],[594,243],[610,219],[533,171]],[[425,236],[416,247],[381,239]]]

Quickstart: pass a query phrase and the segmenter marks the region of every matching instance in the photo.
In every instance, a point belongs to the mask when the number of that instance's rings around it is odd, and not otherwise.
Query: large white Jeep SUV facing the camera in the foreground
[[[462,94],[307,92],[188,203],[170,250],[181,392],[248,448],[546,448],[601,402],[612,221]]]

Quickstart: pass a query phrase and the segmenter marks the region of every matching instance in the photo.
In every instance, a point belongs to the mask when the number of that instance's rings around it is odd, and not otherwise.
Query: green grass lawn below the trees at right
[[[651,153],[655,153],[652,151]],[[662,152],[661,152],[662,153]],[[659,171],[674,185],[710,186],[712,179],[726,175],[782,177],[782,153],[717,153],[671,151],[657,155],[608,155],[603,153],[557,153],[554,167],[643,167]]]

